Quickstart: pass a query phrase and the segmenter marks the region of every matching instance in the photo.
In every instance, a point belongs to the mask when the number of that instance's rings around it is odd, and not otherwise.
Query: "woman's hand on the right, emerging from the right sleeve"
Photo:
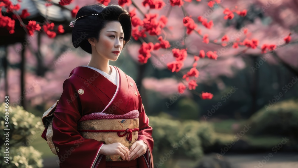
[[[136,159],[142,155],[144,155],[147,151],[148,147],[147,144],[142,141],[135,141],[134,144],[131,145],[131,148],[129,149],[129,156],[128,156],[128,161],[132,160],[132,159]]]

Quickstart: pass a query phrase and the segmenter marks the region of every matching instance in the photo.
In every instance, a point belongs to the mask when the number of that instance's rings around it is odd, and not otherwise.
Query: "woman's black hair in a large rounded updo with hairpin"
[[[123,47],[131,39],[131,17],[127,10],[119,5],[86,5],[77,12],[76,19],[72,30],[72,44],[75,48],[81,47],[87,53],[91,54],[91,44],[87,39],[95,38],[98,41],[100,30],[111,21],[119,21],[122,26],[124,33]]]

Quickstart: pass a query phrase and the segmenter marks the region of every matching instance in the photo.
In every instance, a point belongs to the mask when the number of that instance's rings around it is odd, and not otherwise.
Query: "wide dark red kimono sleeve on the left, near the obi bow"
[[[81,83],[75,75],[64,81],[63,93],[54,112],[52,141],[60,168],[94,167],[104,143],[83,138],[77,131],[77,121],[81,118],[81,101],[77,90]]]

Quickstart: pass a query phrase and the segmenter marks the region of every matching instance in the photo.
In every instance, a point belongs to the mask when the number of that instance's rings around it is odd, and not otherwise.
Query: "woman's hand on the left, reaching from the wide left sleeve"
[[[119,142],[113,144],[103,144],[99,153],[103,155],[120,155],[124,161],[128,160],[129,156],[128,147],[125,147]]]

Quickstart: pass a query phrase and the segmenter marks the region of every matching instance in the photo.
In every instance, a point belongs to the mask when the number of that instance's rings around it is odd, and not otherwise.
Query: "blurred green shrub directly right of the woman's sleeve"
[[[165,118],[166,117],[166,118]],[[212,124],[194,120],[178,121],[167,115],[149,116],[153,128],[153,157],[157,167],[173,167],[177,158],[198,160],[204,155],[203,149],[212,146],[217,140]],[[163,163],[165,154],[173,155]],[[165,159],[164,159],[165,160]]]

